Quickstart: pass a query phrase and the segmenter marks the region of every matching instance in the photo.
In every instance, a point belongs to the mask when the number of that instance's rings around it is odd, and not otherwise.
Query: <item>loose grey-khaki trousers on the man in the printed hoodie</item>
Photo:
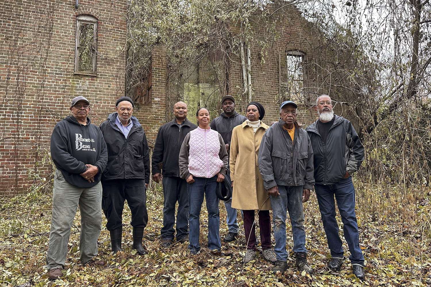
[[[78,188],[66,182],[56,170],[53,188],[53,213],[50,243],[47,252],[47,270],[64,268],[70,229],[79,206],[81,233],[79,253],[82,265],[97,255],[97,238],[102,230],[102,185]]]

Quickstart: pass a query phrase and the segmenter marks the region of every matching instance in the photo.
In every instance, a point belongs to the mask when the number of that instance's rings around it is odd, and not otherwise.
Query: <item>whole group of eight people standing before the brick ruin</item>
[[[133,249],[139,255],[147,254],[142,237],[148,221],[146,187],[150,180],[150,158],[144,130],[132,116],[133,105],[130,98],[120,97],[116,112],[98,129],[87,117],[90,102],[79,96],[72,100],[72,115],[54,128],[51,155],[57,171],[47,253],[50,278],[62,276],[78,206],[82,264],[106,264],[96,259],[100,206],[107,219],[112,251],[121,250],[125,200],[132,213]],[[362,163],[362,144],[350,121],[334,115],[329,96],[317,99],[319,119],[306,130],[296,120],[297,107],[292,101],[283,102],[280,119],[268,126],[262,122],[265,109],[259,102],[250,102],[244,117],[235,111],[235,99],[225,96],[219,117],[211,121],[209,111],[200,108],[195,125],[187,119],[187,105],[175,103],[174,119],[159,128],[151,162],[153,180],[163,185],[162,247],[188,242],[191,254],[200,253],[200,212],[205,198],[207,247],[212,252],[221,252],[217,194],[219,185],[225,184],[231,186],[232,197],[224,199],[228,199],[225,201],[228,234],[223,240],[237,239],[237,209],[240,209],[247,245],[243,262],[256,258],[257,210],[262,257],[274,265],[274,274],[287,270],[288,212],[296,265],[300,271],[312,274],[305,247],[303,203],[308,201],[314,186],[331,250],[328,267],[339,271],[344,259],[335,219],[335,197],[353,274],[365,278],[350,176]],[[274,249],[269,210],[272,210]]]

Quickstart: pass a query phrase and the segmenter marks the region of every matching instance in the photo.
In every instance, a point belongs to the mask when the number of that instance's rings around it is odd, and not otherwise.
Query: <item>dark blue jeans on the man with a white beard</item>
[[[337,219],[335,219],[335,195],[341,220],[343,221],[344,238],[346,238],[349,245],[350,262],[353,265],[363,266],[364,256],[359,247],[359,231],[355,214],[355,188],[353,187],[352,178],[341,179],[333,185],[316,184],[314,189],[332,258],[343,258],[344,256],[343,242],[338,235],[338,223]]]

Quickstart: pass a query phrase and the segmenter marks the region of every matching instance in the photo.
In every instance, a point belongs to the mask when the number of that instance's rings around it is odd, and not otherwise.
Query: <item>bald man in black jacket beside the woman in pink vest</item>
[[[187,182],[180,178],[178,155],[184,137],[197,125],[187,120],[187,105],[174,105],[174,119],[159,128],[151,157],[153,179],[163,183],[162,246],[168,247],[174,239],[175,204],[178,201],[176,220],[177,241],[188,242],[188,193]]]

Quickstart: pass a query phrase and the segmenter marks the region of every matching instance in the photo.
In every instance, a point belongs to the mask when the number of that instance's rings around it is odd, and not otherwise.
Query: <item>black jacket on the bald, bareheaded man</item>
[[[197,125],[187,119],[184,120],[180,128],[175,118],[159,127],[151,157],[153,174],[162,173],[163,176],[180,176],[178,156],[181,145],[187,133],[196,128]]]

